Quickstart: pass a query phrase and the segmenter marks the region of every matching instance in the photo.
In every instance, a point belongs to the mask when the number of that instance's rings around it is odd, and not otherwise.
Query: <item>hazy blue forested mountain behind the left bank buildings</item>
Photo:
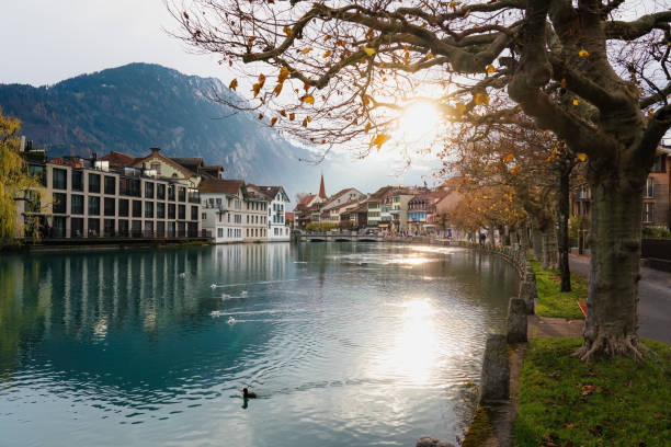
[[[50,157],[112,150],[145,156],[159,147],[171,157],[223,164],[228,179],[284,185],[292,197],[316,186],[315,170],[298,160],[310,157],[307,150],[249,113],[223,118],[231,110],[212,101],[212,93],[230,91],[218,79],[129,64],[49,87],[0,84],[0,105]]]

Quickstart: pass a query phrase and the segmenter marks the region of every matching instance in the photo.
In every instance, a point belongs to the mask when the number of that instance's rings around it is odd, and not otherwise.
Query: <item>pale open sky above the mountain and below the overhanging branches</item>
[[[194,54],[166,30],[177,30],[163,0],[21,0],[2,5],[0,83],[54,84],[82,73],[129,62],[160,64],[185,74],[214,77],[226,84],[234,74],[212,55]],[[340,153],[339,153],[340,152]],[[402,175],[397,157],[354,160],[336,150],[327,174],[331,187],[374,190],[385,184],[422,184],[430,173],[418,161]],[[317,172],[323,168],[315,167]],[[357,186],[354,184],[354,186]]]

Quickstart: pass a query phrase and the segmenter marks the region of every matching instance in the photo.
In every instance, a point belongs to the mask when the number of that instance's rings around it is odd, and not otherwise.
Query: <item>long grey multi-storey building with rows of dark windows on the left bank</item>
[[[150,169],[66,157],[30,161],[29,171],[39,179],[43,199],[20,202],[19,219],[45,238],[203,236],[198,191]]]

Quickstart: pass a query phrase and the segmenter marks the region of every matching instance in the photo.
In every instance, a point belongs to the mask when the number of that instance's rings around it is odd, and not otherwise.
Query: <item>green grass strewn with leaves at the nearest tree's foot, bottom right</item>
[[[645,362],[580,362],[577,339],[533,340],[522,368],[513,428],[524,446],[668,446],[669,346],[644,341]]]

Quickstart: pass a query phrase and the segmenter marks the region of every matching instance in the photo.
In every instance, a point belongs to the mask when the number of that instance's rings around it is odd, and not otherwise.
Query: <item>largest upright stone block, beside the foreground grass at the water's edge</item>
[[[491,334],[487,337],[480,383],[480,403],[507,400],[510,397],[510,362],[505,335]]]

